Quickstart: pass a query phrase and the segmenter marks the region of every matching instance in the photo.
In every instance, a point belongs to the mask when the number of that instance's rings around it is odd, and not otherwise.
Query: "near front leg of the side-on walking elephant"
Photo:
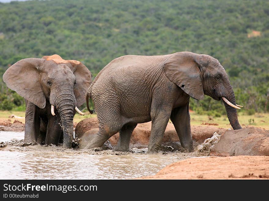
[[[148,152],[149,154],[157,153],[163,141],[164,131],[169,121],[170,113],[165,110],[157,110],[151,112],[151,133],[149,137]]]

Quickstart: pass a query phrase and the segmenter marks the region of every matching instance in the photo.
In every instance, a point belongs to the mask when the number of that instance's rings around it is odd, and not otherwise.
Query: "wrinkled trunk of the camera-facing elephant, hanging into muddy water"
[[[61,118],[61,127],[64,134],[63,147],[71,148],[74,132],[73,117],[76,98],[73,92],[73,87],[69,85],[62,84],[61,88],[57,89],[57,92],[57,96],[54,96],[54,100],[51,101],[51,103],[55,104]]]

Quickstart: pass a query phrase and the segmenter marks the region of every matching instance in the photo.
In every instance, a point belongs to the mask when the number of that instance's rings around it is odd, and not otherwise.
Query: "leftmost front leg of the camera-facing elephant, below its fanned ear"
[[[40,132],[40,117],[37,106],[32,102],[27,102],[25,111],[25,132],[24,142],[37,142]]]

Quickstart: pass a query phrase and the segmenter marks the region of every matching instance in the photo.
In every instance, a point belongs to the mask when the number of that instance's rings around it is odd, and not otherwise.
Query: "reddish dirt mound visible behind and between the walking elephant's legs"
[[[77,126],[75,133],[79,138],[82,138],[84,133],[91,133],[96,134],[98,132],[98,121],[97,118],[87,118],[80,121]],[[150,136],[150,130],[151,130],[151,122],[138,124],[136,128],[133,131],[133,134],[131,136],[130,141],[130,148],[143,148],[147,147],[149,143],[149,136]],[[191,126],[191,134],[193,140],[197,141],[197,143],[202,143],[205,139],[210,138],[213,136],[214,132],[218,132],[219,134],[222,134],[226,129],[223,128],[216,128],[213,126]],[[87,135],[88,135],[87,134]],[[88,143],[90,142],[92,137],[83,138],[83,140],[87,140]],[[116,133],[114,136],[112,136],[109,141],[112,146],[116,146],[119,139],[119,133]],[[82,140],[82,141],[83,141]],[[81,141],[81,142],[82,142]],[[82,142],[84,144],[84,142]],[[166,130],[164,132],[164,140],[163,143],[174,143],[176,145],[177,149],[180,149],[180,146],[178,146],[179,143],[179,137],[175,131],[174,125],[172,123],[168,123]],[[177,143],[177,144],[175,144]],[[84,145],[83,145],[84,146]]]

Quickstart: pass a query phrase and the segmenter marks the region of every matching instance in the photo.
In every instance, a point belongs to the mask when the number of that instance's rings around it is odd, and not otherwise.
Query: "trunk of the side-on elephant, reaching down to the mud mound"
[[[234,95],[234,91],[233,91],[232,88],[230,88],[230,92],[228,94],[229,94],[228,97],[226,97],[227,100],[229,102],[231,102],[233,105],[236,105],[235,95]],[[233,129],[234,130],[241,129],[242,127],[238,122],[237,109],[230,106],[230,105],[228,105],[226,102],[224,102],[224,105],[225,105],[225,109],[226,109],[228,119],[229,119],[230,124],[233,127]]]

